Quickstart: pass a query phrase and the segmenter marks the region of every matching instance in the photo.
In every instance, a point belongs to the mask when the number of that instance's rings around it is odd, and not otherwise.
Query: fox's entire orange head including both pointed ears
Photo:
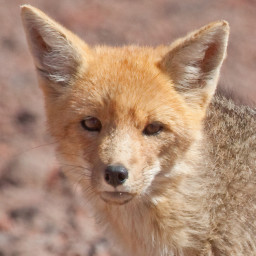
[[[22,19],[66,174],[108,204],[178,177],[215,92],[229,26],[211,23],[170,46],[90,47],[40,10]],[[161,185],[160,185],[161,186]]]

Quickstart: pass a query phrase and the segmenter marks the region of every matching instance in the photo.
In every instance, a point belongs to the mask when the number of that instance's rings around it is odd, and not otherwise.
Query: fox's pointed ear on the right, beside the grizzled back
[[[213,96],[228,35],[226,21],[211,23],[174,42],[158,63],[192,107],[206,107]]]

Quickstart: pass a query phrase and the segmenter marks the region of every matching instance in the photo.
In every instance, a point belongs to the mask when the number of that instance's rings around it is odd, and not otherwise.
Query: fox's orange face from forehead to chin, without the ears
[[[199,129],[167,77],[148,56],[140,54],[145,60],[136,63],[138,54],[136,47],[96,50],[92,70],[69,91],[65,107],[56,109],[65,116],[57,120],[57,113],[48,113],[53,115],[52,129],[58,129],[55,137],[61,136],[59,153],[72,165],[88,166],[91,186],[106,201],[123,203],[148,193],[156,176],[169,171]],[[110,193],[115,193],[113,199]]]

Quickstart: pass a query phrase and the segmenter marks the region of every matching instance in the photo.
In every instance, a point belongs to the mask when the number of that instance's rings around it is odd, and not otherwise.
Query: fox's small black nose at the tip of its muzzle
[[[109,165],[105,170],[105,181],[113,187],[122,185],[127,178],[128,171],[123,166]]]

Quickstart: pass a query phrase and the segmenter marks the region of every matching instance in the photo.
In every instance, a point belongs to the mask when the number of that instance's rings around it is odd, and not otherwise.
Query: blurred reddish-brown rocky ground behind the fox
[[[54,157],[20,20],[34,5],[89,44],[169,44],[208,22],[231,26],[219,86],[256,102],[255,0],[0,0],[0,256],[115,252]]]

